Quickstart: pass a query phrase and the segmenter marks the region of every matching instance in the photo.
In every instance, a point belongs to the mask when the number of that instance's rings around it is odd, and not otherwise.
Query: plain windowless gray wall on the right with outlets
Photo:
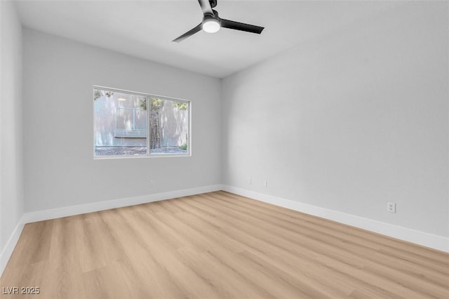
[[[407,3],[226,78],[225,184],[448,237],[448,54]]]

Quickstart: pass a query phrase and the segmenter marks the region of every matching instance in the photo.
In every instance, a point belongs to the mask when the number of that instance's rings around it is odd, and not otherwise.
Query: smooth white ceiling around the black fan
[[[397,1],[218,0],[221,18],[264,26],[262,34],[221,29],[172,42],[202,20],[197,0],[16,1],[25,27],[226,77],[335,29],[398,5]]]

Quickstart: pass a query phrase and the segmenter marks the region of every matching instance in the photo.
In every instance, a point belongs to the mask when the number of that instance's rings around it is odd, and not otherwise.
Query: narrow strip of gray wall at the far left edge
[[[0,1],[0,252],[24,211],[22,26],[10,1]],[[1,269],[0,269],[1,272]]]

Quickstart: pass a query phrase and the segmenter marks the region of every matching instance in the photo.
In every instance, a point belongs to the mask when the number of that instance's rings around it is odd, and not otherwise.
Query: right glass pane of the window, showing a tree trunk
[[[189,154],[189,103],[149,98],[151,154]]]

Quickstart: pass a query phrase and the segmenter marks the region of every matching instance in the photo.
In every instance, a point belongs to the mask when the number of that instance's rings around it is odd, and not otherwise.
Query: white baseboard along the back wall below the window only
[[[123,206],[134,206],[136,204],[145,204],[152,201],[164,199],[174,199],[176,197],[187,197],[189,195],[201,194],[222,190],[222,185],[210,185],[196,187],[185,190],[175,190],[170,192],[147,194],[139,197],[128,197],[124,199],[113,199],[109,201],[98,201],[92,204],[80,204],[77,206],[65,206],[63,208],[51,208],[43,211],[29,212],[23,215],[25,223],[49,220],[83,213],[108,210],[109,208],[121,208]]]

